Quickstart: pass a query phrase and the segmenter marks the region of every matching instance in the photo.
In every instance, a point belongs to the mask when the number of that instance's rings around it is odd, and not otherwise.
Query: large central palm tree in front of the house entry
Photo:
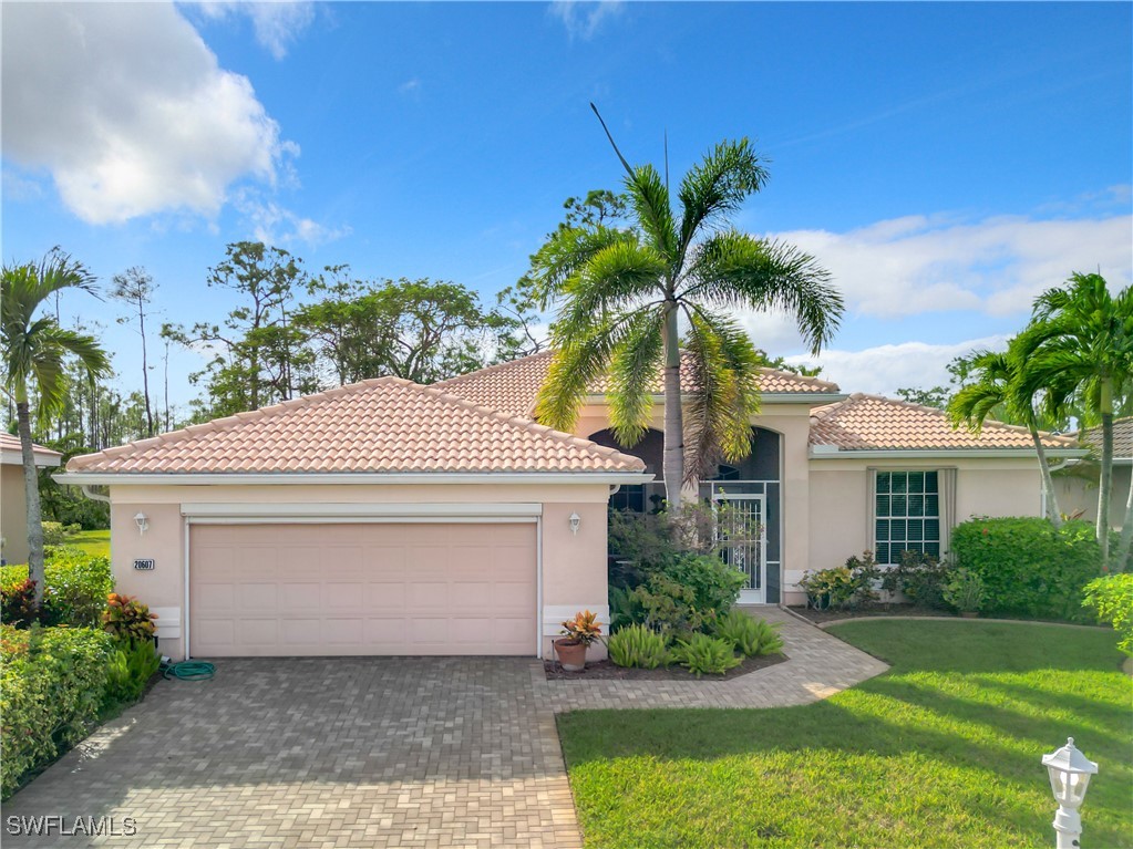
[[[627,172],[633,226],[563,225],[533,257],[536,295],[544,307],[561,299],[536,415],[569,430],[587,388],[605,377],[612,428],[632,446],[649,427],[654,379],[663,369],[663,474],[676,509],[682,482],[701,477],[719,456],[736,461],[751,451],[761,359],[731,311],[787,310],[818,353],[838,326],[842,297],[807,254],[726,229],[729,215],[767,179],[748,139],[718,144],[692,168],[676,211],[667,179],[651,165],[631,168],[610,142]],[[685,387],[682,324],[691,365]]]

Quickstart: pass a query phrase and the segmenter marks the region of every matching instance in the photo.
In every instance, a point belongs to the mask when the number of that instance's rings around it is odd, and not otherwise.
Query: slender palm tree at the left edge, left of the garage
[[[68,380],[63,360],[78,359],[86,376],[110,370],[110,360],[93,336],[59,326],[51,315],[35,314],[63,289],[95,293],[94,276],[80,263],[58,248],[36,265],[6,265],[0,275],[0,343],[3,349],[3,387],[16,404],[19,441],[24,460],[24,492],[27,500],[27,568],[35,582],[35,603],[43,599],[43,522],[40,511],[39,475],[32,454],[31,398],[40,424],[58,414],[67,400]]]

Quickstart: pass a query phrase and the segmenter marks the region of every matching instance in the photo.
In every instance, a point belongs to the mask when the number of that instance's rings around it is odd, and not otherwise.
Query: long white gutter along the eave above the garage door
[[[349,483],[360,486],[451,483],[648,483],[648,472],[63,472],[63,486],[229,486]]]

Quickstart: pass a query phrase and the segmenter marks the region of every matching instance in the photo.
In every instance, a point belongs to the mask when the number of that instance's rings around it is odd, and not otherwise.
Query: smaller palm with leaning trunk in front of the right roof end
[[[1015,344],[1016,340],[1008,342],[1007,351],[1011,352]],[[969,368],[972,383],[962,387],[948,402],[948,417],[952,419],[953,427],[966,424],[970,431],[979,434],[988,417],[997,409],[1003,410],[1006,418],[1022,421],[1031,434],[1034,453],[1039,458],[1042,487],[1048,496],[1046,499],[1047,515],[1055,528],[1062,528],[1058,496],[1055,494],[1054,481],[1050,478],[1047,452],[1039,436],[1033,395],[1023,388],[1019,360],[1010,353],[977,351],[970,360]]]

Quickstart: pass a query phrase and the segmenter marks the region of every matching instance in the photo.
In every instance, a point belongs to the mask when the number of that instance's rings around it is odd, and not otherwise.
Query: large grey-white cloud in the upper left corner
[[[298,147],[171,3],[6,3],[3,156],[93,224],[214,216]]]

